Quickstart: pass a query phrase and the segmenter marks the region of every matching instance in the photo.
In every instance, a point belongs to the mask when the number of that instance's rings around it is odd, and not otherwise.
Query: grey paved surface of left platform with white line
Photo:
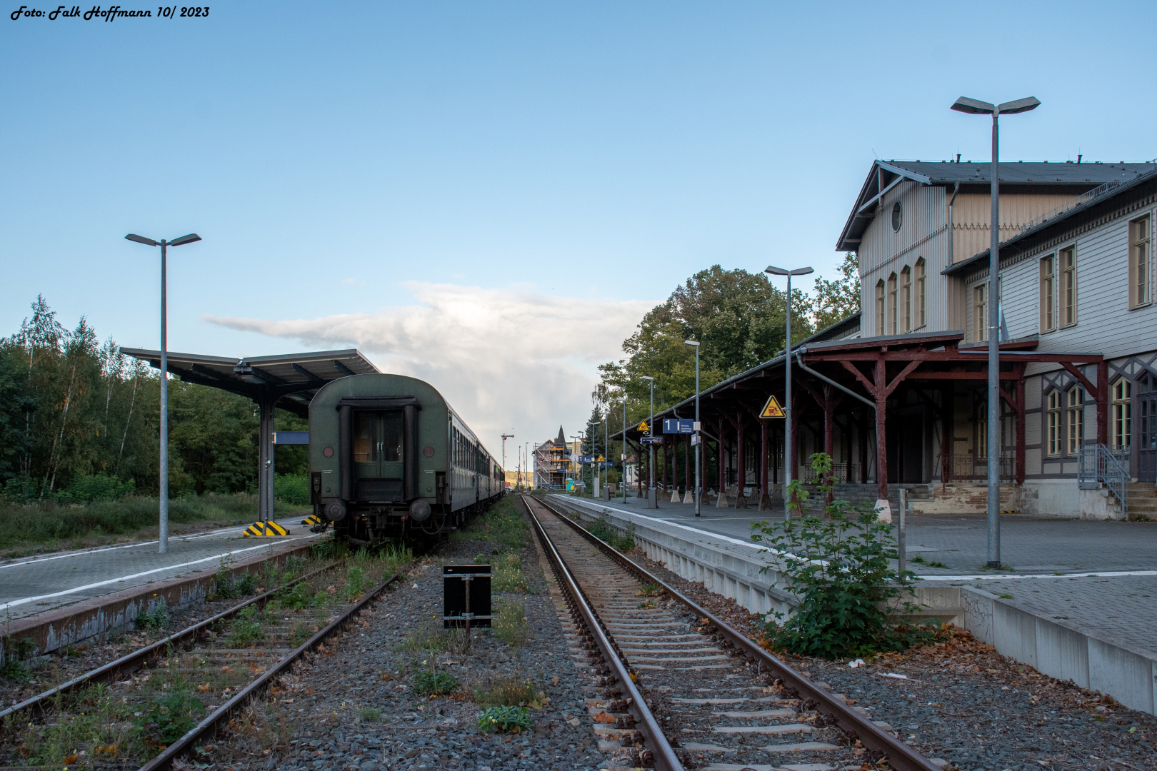
[[[243,538],[245,526],[169,539],[169,550],[157,551],[156,541],[58,551],[0,562],[0,617],[22,618],[81,600],[121,592],[220,564],[221,559],[258,556],[305,538],[315,538],[301,524],[301,514],[279,521],[290,531],[285,538]]]

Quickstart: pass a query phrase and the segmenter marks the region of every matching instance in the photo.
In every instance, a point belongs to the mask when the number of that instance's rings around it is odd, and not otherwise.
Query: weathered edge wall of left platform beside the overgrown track
[[[249,557],[230,566],[234,576],[251,572],[270,559],[283,563],[290,556],[304,556],[311,546],[296,541],[297,546]],[[216,568],[201,570],[182,578],[172,578],[155,584],[145,584],[116,594],[84,600],[73,606],[46,613],[6,621],[2,625],[5,645],[0,646],[0,666],[9,640],[31,639],[37,655],[76,645],[117,629],[130,629],[142,611],[150,609],[163,598],[169,608],[183,608],[202,601],[216,580]]]

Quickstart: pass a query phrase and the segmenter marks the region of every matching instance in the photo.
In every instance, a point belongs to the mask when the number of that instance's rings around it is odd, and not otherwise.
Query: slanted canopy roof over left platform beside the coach
[[[120,353],[161,369],[161,351],[121,348]],[[266,400],[301,417],[309,415],[309,401],[318,388],[348,375],[371,375],[379,370],[356,348],[318,350],[278,356],[204,356],[170,351],[169,372],[185,383]]]

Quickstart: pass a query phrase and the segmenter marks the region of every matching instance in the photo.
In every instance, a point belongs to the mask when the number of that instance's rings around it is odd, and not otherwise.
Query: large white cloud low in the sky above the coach
[[[300,341],[355,346],[383,372],[433,384],[501,452],[543,442],[561,423],[572,433],[590,415],[597,365],[619,358],[622,340],[655,303],[555,297],[525,288],[404,284],[420,305],[317,319],[204,317],[231,329]]]

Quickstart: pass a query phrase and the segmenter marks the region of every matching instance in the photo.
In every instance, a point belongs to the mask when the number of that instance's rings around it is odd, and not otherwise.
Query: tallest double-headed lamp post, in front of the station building
[[[961,96],[952,105],[957,112],[993,117],[992,214],[988,242],[988,566],[1001,566],[1001,347],[997,283],[1001,270],[1001,183],[1000,132],[997,118],[1003,112],[1014,114],[1040,106],[1040,101],[1029,96],[1015,102],[992,104]]]

